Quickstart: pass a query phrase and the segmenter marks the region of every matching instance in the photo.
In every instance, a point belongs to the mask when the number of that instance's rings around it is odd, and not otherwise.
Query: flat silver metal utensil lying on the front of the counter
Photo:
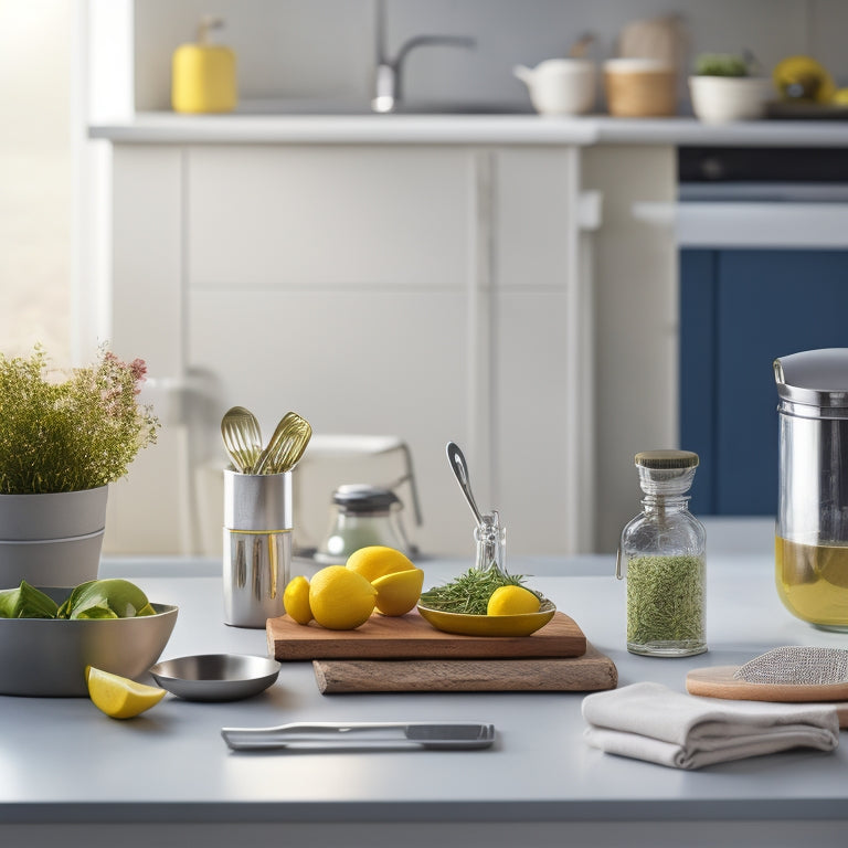
[[[276,748],[340,749],[475,749],[495,740],[494,724],[457,722],[295,722],[276,728],[222,728],[233,751]]]

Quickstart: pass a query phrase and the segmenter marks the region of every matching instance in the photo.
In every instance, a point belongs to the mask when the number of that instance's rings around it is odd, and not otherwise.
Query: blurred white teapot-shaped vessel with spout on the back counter
[[[595,63],[587,59],[549,59],[534,68],[516,65],[540,115],[582,115],[595,105]]]

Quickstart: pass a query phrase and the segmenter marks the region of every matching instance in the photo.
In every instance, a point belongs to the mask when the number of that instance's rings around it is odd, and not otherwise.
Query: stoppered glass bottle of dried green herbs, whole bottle
[[[707,534],[689,511],[687,494],[698,454],[645,451],[635,463],[643,511],[622,531],[615,572],[627,579],[627,650],[650,657],[702,654]]]

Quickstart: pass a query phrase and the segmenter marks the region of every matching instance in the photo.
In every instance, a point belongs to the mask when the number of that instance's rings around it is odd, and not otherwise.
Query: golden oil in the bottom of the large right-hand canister
[[[775,540],[777,594],[798,618],[848,632],[848,544]]]

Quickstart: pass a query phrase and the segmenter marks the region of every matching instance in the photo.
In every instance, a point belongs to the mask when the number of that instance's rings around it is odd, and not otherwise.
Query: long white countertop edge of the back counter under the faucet
[[[123,144],[848,146],[848,121],[626,119],[538,115],[177,115],[91,126]]]

